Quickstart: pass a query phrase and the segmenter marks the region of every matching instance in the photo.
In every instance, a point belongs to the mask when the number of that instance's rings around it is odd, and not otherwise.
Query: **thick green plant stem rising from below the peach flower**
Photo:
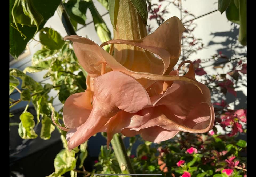
[[[125,145],[119,133],[116,133],[111,140],[112,147],[115,152],[115,157],[119,163],[120,169],[123,174],[135,174],[130,159],[127,156]]]

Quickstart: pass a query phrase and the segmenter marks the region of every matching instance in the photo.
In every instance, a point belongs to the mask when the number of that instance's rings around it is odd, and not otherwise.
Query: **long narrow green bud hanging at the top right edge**
[[[238,0],[238,2],[240,19],[238,41],[245,46],[247,42],[247,0]]]

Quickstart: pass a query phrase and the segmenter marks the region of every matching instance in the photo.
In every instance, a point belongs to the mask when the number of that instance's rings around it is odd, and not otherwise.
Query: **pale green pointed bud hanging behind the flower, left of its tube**
[[[93,16],[93,23],[94,23],[95,30],[96,30],[101,42],[103,43],[103,42],[111,40],[111,33],[110,33],[109,29],[107,28],[105,21],[102,19],[101,15],[95,8],[94,4],[91,4],[89,6],[89,9],[91,11],[91,15]],[[109,46],[104,46],[103,48],[106,51],[109,51]]]

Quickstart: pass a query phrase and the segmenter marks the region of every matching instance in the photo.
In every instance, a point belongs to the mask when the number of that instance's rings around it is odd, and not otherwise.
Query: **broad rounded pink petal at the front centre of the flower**
[[[106,105],[104,109],[111,111],[118,108],[136,113],[150,104],[150,98],[142,85],[119,71],[111,71],[96,77],[94,95]]]

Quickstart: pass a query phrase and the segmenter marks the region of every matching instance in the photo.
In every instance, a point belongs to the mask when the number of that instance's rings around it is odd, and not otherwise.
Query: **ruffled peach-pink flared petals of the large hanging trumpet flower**
[[[193,63],[179,65],[190,64],[184,76],[179,76],[179,68],[171,71],[181,53],[183,31],[181,21],[172,17],[138,40],[110,40],[99,46],[77,35],[64,38],[73,42],[75,55],[88,73],[87,90],[71,95],[63,107],[66,128],[60,128],[68,131],[69,149],[102,131],[107,132],[109,145],[115,133],[140,134],[146,141],[159,142],[179,131],[211,130],[210,91],[196,81]],[[114,43],[135,46],[133,61],[114,58],[102,49]]]

